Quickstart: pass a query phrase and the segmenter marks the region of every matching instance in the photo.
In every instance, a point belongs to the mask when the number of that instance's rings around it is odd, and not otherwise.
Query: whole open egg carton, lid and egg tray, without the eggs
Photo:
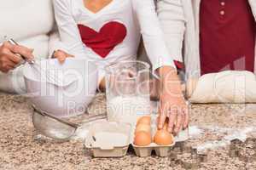
[[[151,132],[154,135],[156,127],[156,116],[152,115]],[[172,147],[176,142],[181,142],[189,138],[188,130],[185,130],[170,145],[158,145],[151,143],[148,146],[137,146],[133,144],[135,127],[129,123],[122,122],[95,122],[90,125],[84,146],[90,150],[94,157],[121,157],[127,154],[131,144],[137,156],[151,156],[155,150],[157,156],[170,156]],[[125,139],[124,139],[125,137]],[[152,136],[153,138],[154,136]]]

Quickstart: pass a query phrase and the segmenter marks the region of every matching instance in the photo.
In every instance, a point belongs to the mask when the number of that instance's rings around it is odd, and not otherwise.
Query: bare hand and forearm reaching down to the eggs
[[[163,128],[169,117],[168,131],[179,133],[189,125],[189,108],[182,93],[181,82],[177,72],[170,66],[160,68],[160,122]]]

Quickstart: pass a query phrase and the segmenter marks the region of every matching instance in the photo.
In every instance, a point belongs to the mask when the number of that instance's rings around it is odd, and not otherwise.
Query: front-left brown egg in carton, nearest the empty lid
[[[137,132],[134,138],[134,144],[137,146],[146,146],[148,144],[151,144],[151,135],[150,133],[146,132]]]

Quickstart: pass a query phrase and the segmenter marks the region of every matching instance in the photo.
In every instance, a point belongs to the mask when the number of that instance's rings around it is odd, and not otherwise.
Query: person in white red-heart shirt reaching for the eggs
[[[93,60],[99,67],[99,84],[104,88],[104,67],[136,59],[141,34],[153,71],[160,77],[160,124],[170,117],[169,131],[188,126],[176,65],[168,52],[155,13],[154,0],[54,0],[60,47],[55,54],[63,61],[68,55]],[[172,83],[167,83],[172,81]],[[173,95],[177,94],[177,95]],[[175,109],[173,110],[173,106]],[[175,122],[177,121],[176,125]]]

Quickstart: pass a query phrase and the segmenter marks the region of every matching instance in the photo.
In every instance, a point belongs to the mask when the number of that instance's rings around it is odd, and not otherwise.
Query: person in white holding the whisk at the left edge
[[[21,58],[15,54],[22,54],[27,59],[45,59],[53,54],[53,43],[58,37],[53,31],[52,1],[3,1],[0,15],[0,90],[25,93],[22,66],[15,68]],[[5,42],[5,36],[14,38],[20,46]]]

